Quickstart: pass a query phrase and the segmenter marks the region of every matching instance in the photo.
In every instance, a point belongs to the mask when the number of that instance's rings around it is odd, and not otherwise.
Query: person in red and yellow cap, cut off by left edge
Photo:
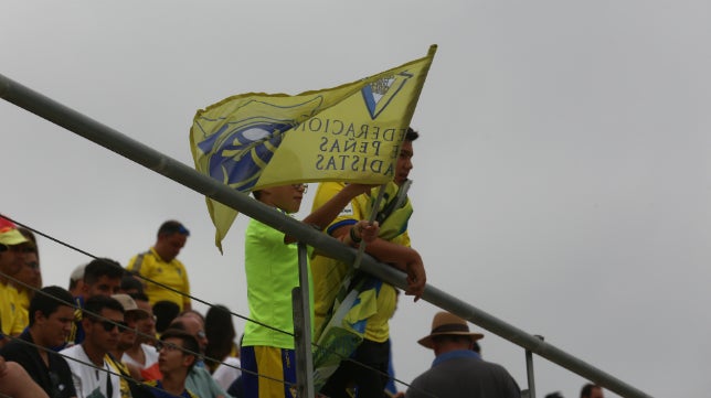
[[[28,312],[10,279],[24,266],[23,247],[28,244],[14,223],[0,217],[0,346],[8,342],[2,334],[18,336],[29,323]]]

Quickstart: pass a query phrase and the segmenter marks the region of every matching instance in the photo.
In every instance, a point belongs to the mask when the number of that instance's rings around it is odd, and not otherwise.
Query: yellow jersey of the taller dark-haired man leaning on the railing
[[[325,182],[319,184],[314,198],[314,208],[319,208],[331,197],[338,194],[346,184],[339,182]],[[390,196],[397,192],[397,186],[394,183],[389,184]],[[328,226],[327,232],[329,235],[347,225],[354,225],[361,219],[370,217],[371,207],[375,200],[378,190],[373,190],[371,194],[362,194],[353,198],[349,205],[336,217],[336,219]],[[388,198],[381,206],[386,203]],[[410,247],[410,236],[407,235],[407,219],[412,214],[411,211],[395,214],[395,217],[401,217],[402,220],[397,223],[391,222],[388,225],[381,223],[380,236],[393,244]],[[385,227],[385,228],[383,228]],[[386,234],[386,237],[385,235]],[[341,261],[325,257],[316,256],[311,260],[311,271],[314,272],[314,292],[315,292],[315,316],[316,327],[320,327],[327,314],[333,305],[333,301],[338,291],[341,288],[343,279],[349,272],[350,267]],[[390,337],[389,321],[395,312],[396,304],[395,288],[389,283],[382,283],[378,291],[376,305],[378,312],[368,319],[365,326],[364,338],[373,342],[383,343]]]

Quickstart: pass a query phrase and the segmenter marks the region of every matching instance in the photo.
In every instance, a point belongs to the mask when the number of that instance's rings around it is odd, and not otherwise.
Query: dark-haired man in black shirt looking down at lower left
[[[12,340],[0,355],[20,364],[51,398],[76,397],[72,372],[53,347],[64,343],[74,321],[72,294],[52,286],[30,301],[30,327]]]

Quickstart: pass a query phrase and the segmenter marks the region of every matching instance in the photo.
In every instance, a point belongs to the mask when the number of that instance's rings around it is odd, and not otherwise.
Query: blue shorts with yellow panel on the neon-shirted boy
[[[242,380],[245,398],[295,398],[296,355],[294,349],[242,347]]]

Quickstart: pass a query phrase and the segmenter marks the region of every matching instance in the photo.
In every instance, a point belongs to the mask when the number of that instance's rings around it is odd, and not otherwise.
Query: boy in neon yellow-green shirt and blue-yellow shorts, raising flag
[[[274,186],[253,194],[257,201],[291,214],[301,206],[306,187],[305,184]],[[328,225],[353,197],[370,189],[371,185],[361,184],[347,186],[304,223]],[[362,222],[359,228],[361,236],[358,239],[370,241],[378,235],[376,225]],[[291,289],[299,286],[297,245],[291,237],[256,219],[250,220],[245,235],[250,319],[293,333]],[[343,241],[354,245],[348,238]],[[247,322],[245,326],[241,358],[246,398],[295,397],[294,337],[278,331],[255,322]]]

